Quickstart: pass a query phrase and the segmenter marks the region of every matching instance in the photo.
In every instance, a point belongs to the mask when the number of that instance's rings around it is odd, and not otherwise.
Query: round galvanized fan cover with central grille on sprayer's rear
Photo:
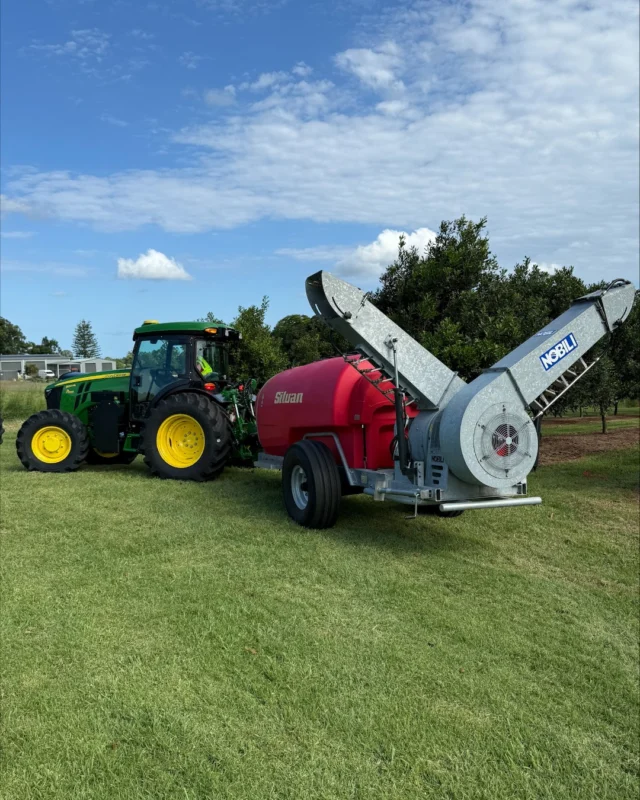
[[[485,409],[473,444],[479,463],[491,477],[515,481],[530,472],[537,452],[531,418],[521,407],[506,402]]]

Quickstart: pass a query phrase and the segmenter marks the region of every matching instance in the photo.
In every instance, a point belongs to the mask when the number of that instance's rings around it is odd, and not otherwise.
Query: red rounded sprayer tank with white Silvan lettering
[[[379,376],[369,373],[369,377]],[[294,367],[260,390],[256,404],[260,444],[268,455],[284,456],[306,433],[335,433],[351,468],[390,469],[395,410],[393,395],[388,397],[343,358]],[[407,409],[413,416],[411,412],[412,407]],[[340,463],[333,440],[323,441]]]

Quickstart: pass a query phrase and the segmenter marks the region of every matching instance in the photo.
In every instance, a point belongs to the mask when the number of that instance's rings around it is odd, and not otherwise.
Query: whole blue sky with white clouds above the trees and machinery
[[[273,324],[463,213],[505,267],[637,282],[637,42],[635,0],[5,0],[1,313],[112,356]]]

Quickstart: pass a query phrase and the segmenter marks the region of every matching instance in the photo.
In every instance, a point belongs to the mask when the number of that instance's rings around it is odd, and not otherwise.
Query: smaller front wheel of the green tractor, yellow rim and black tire
[[[73,414],[52,408],[33,414],[16,438],[22,465],[38,472],[73,472],[87,457],[89,435]]]

